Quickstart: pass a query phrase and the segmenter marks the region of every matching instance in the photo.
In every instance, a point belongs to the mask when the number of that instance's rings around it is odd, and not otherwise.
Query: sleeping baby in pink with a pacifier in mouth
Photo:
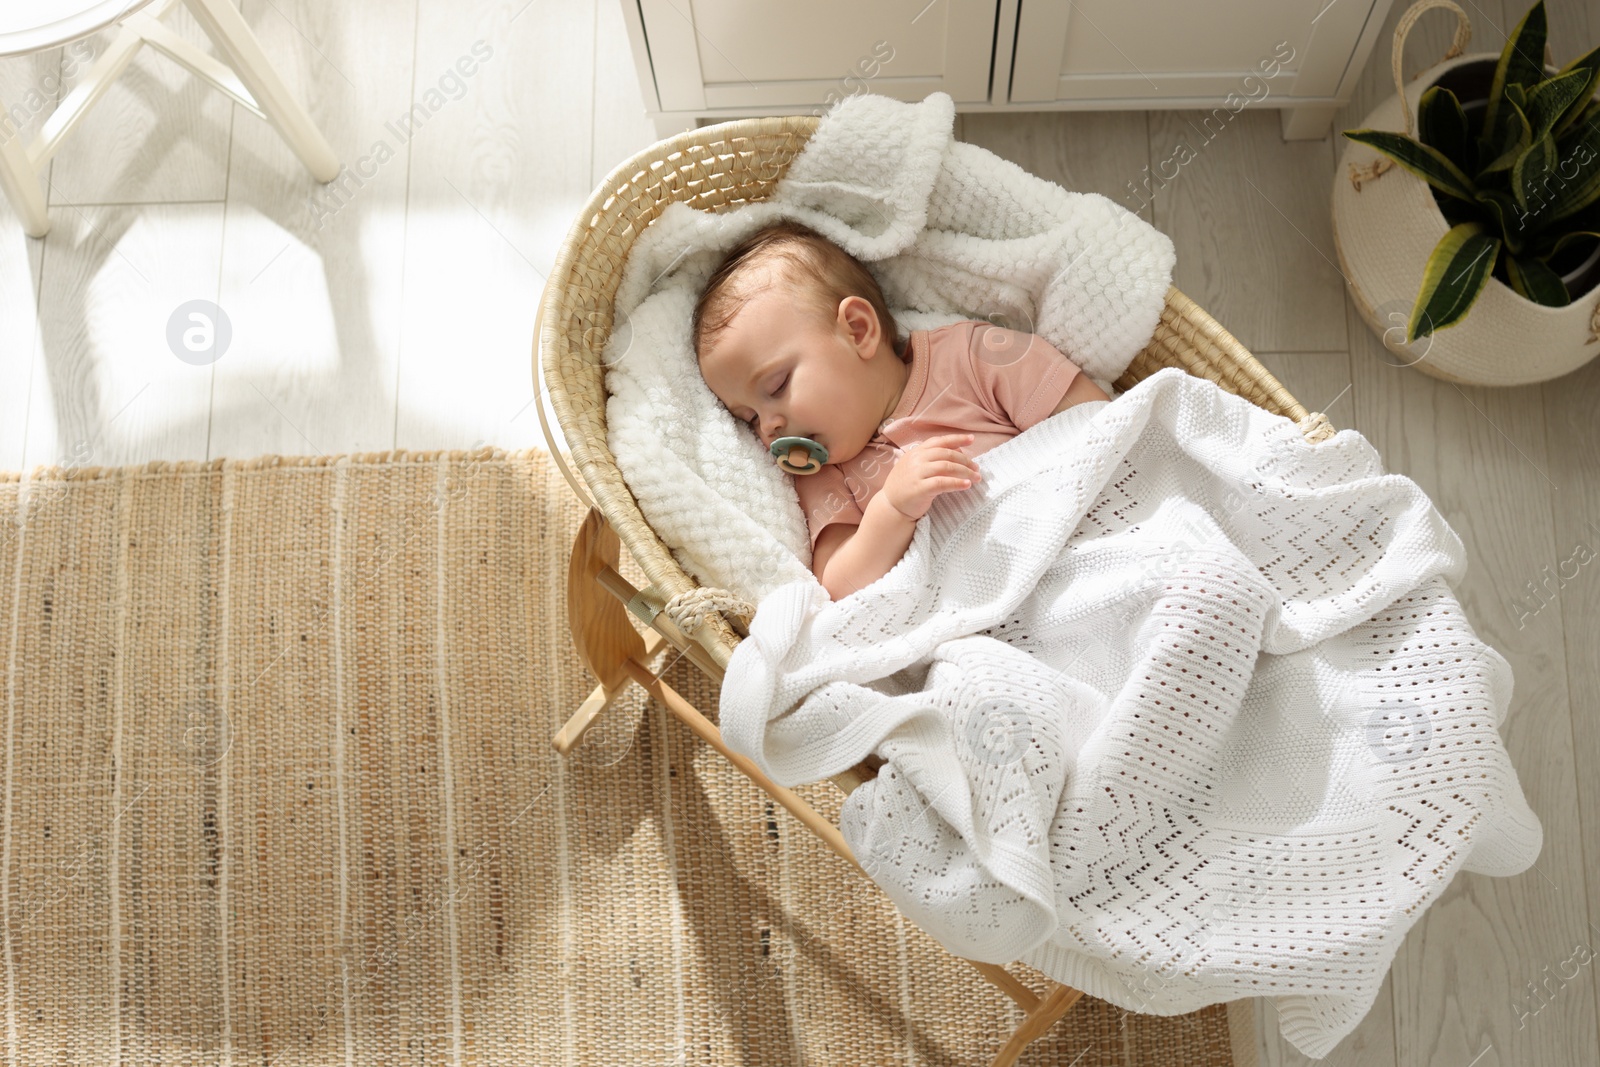
[[[795,491],[834,600],[890,573],[973,458],[1106,394],[1043,338],[987,322],[898,339],[872,274],[810,227],[757,230],[694,307],[699,370]]]

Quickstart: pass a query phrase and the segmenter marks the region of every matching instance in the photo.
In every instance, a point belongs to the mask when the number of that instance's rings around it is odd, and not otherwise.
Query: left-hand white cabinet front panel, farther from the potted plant
[[[989,99],[998,0],[638,0],[662,110]]]

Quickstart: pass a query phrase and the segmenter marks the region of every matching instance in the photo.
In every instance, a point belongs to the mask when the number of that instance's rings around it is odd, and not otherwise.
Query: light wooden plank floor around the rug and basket
[[[1392,91],[1405,6],[1334,131]],[[1474,51],[1498,50],[1525,10],[1462,6]],[[27,240],[0,203],[0,467],[544,445],[530,381],[539,288],[589,190],[653,141],[616,0],[243,11],[360,174],[315,186],[253,115],[141,56],[46,173],[51,237]],[[1558,64],[1600,42],[1600,0],[1549,11]],[[182,14],[173,24],[192,32]],[[1408,75],[1451,29],[1443,11],[1422,19]],[[0,61],[0,101],[40,90],[37,130],[83,66],[66,50]],[[1600,362],[1504,390],[1392,366],[1333,251],[1342,139],[1283,142],[1269,109],[1214,136],[1198,118],[965,115],[957,134],[1171,234],[1174,282],[1427,490],[1470,555],[1458,593],[1515,669],[1506,737],[1546,830],[1534,870],[1451,883],[1323,1062],[1600,1065],[1600,984],[1592,966],[1568,976],[1574,952],[1600,944],[1600,581],[1586,569],[1549,609],[1515,608],[1542,568],[1600,544]],[[1195,158],[1136,194],[1181,139]],[[219,302],[232,325],[208,366],[166,349],[168,315],[189,299]],[[1256,1016],[1262,1064],[1309,1062],[1270,1005]]]

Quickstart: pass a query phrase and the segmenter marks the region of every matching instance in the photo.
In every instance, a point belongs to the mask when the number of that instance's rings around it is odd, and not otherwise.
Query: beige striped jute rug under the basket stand
[[[1011,1001],[638,686],[555,755],[581,518],[542,451],[0,475],[0,1062],[987,1064]]]

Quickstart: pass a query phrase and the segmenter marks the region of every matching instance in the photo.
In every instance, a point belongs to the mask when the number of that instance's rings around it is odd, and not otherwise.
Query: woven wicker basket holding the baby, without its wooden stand
[[[723,611],[704,608],[725,608],[738,598],[726,590],[701,589],[645,522],[606,445],[600,358],[611,334],[611,301],[622,280],[622,266],[645,227],[675,200],[702,211],[728,211],[766,198],[816,125],[814,115],[725,122],[659,141],[621,163],[606,174],[568,230],[539,301],[534,389],[542,384],[549,390],[550,408],[581,482],[562,461],[546,426],[550,453],[562,464],[573,491],[600,509],[650,579],[651,587],[640,593],[651,601],[645,605],[646,613],[650,608],[666,609],[674,622],[688,619],[682,629],[706,648],[718,667],[728,665],[728,656],[746,630],[738,617],[730,622]],[[1293,419],[1307,440],[1333,434],[1326,416],[1307,413],[1245,346],[1176,288],[1166,291],[1166,307],[1150,344],[1114,384],[1128,390],[1166,366],[1208,378],[1267,411]],[[539,419],[542,424],[542,403]]]

